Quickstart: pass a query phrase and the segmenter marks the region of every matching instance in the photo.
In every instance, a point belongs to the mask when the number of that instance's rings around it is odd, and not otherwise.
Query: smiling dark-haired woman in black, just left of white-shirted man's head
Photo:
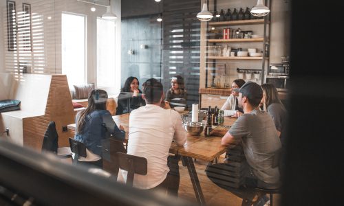
[[[138,89],[139,84],[138,78],[133,76],[125,80],[125,85],[120,89],[120,95],[118,95],[116,115],[130,113],[134,109],[146,105],[142,99],[142,91]]]

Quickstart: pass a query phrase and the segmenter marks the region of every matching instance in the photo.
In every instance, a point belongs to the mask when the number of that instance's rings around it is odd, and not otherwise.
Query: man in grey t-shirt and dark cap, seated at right
[[[263,91],[255,82],[246,82],[239,89],[238,102],[244,108],[244,115],[222,137],[222,145],[241,142],[252,179],[257,179],[255,186],[276,187],[279,168],[272,168],[272,161],[281,148],[281,141],[271,116],[257,109],[262,97]]]

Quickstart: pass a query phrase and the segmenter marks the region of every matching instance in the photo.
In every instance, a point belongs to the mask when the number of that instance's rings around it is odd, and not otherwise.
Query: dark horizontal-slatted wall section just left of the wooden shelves
[[[172,76],[182,76],[188,108],[198,102],[200,87],[200,21],[196,18],[200,5],[200,0],[163,1],[162,84],[166,91]]]

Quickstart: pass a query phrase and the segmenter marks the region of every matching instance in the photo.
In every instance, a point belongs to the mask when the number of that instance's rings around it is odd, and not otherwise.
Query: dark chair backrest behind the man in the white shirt
[[[117,152],[120,169],[128,171],[127,185],[133,186],[134,174],[147,174],[147,159],[135,155],[127,155],[123,152]]]

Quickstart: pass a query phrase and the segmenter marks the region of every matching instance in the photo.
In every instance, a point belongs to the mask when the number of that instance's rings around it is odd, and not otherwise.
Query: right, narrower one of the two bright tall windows
[[[115,22],[97,19],[97,85],[115,87]]]

